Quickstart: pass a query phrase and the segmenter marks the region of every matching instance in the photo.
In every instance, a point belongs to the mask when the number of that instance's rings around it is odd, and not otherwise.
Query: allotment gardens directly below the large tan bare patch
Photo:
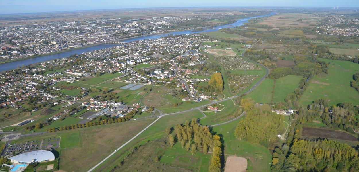
[[[220,65],[227,70],[253,70],[261,69],[259,66],[247,61],[246,59],[238,56],[215,56],[214,57]]]

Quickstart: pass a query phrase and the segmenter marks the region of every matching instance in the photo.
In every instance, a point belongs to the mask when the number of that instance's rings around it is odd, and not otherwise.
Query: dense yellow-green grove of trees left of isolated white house
[[[238,123],[236,137],[263,145],[274,142],[279,130],[283,129],[284,117],[273,113],[269,105],[255,107],[250,98],[242,99],[241,104],[247,115]]]

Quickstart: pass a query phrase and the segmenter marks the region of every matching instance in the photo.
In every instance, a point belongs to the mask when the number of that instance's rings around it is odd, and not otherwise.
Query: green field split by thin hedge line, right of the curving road
[[[275,81],[275,89],[273,95],[273,102],[284,101],[284,98],[293,93],[298,87],[301,76],[288,75],[281,77]],[[251,97],[257,103],[271,103],[272,91],[273,91],[274,79],[266,78],[255,90],[253,90],[248,96]]]

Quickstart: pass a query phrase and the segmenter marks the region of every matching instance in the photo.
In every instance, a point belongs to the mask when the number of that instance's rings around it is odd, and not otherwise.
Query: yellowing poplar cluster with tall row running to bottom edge
[[[173,147],[176,142],[181,144],[182,148],[191,151],[192,155],[197,150],[207,153],[211,150],[212,159],[210,163],[210,172],[220,172],[222,168],[222,143],[218,135],[213,135],[207,126],[200,126],[197,120],[193,118],[186,120],[184,125],[177,124],[172,132],[170,128],[166,128],[168,135],[168,143]],[[175,137],[176,136],[176,137]]]

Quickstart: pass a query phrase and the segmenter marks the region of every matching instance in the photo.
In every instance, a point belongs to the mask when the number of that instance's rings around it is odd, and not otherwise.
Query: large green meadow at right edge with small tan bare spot
[[[353,80],[353,74],[358,72],[359,64],[339,60],[320,60],[330,62],[329,72],[328,74],[321,73],[312,78],[312,83],[309,84],[299,100],[300,105],[307,106],[320,98],[330,100],[330,105],[343,102],[358,105],[359,93],[350,87],[350,81]]]

